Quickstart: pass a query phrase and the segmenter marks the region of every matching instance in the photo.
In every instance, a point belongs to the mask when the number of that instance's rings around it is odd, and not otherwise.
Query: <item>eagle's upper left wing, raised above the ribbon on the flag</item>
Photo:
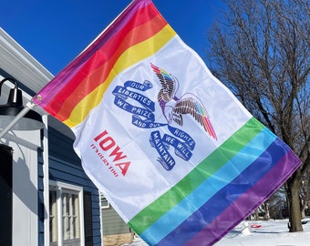
[[[155,72],[156,76],[160,79],[161,89],[157,96],[158,101],[161,100],[165,102],[169,102],[175,95],[175,91],[177,89],[176,80],[171,77],[171,74],[161,69],[160,67],[156,67],[153,64],[150,64],[150,67]]]

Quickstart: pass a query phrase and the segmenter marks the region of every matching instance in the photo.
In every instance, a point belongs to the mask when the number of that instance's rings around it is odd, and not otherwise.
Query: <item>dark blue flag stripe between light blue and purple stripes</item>
[[[251,189],[254,184],[262,179],[263,176],[273,169],[278,161],[284,157],[289,149],[284,145],[280,139],[276,139],[274,143],[263,152],[263,154],[256,159],[247,169],[243,171],[238,177],[225,186],[222,190],[217,192],[210,200],[203,204],[203,206],[196,210],[183,221],[174,231],[167,235],[163,240],[158,241],[157,245],[184,245],[186,241],[190,241],[198,232],[202,231],[212,220],[221,215],[223,210],[231,206],[234,200],[237,200],[243,195],[246,190]],[[282,177],[274,177],[273,182],[277,183],[277,179]],[[272,190],[273,187],[269,183],[265,184],[262,189]],[[267,191],[266,191],[267,192]],[[257,197],[249,197],[249,200],[257,200]],[[254,208],[248,208],[249,210]],[[238,210],[238,208],[236,208]],[[243,218],[245,214],[241,214]],[[223,223],[230,223],[228,220],[222,220]],[[227,228],[227,225],[223,225]],[[221,234],[221,225],[215,233]],[[180,236],[181,235],[181,236]]]

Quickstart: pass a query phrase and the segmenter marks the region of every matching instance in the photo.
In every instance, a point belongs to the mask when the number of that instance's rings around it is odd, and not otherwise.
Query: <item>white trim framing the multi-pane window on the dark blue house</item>
[[[62,212],[62,202],[61,202],[63,190],[73,191],[73,193],[78,194],[78,205],[79,205],[79,215],[80,215],[80,219],[79,219],[80,245],[83,246],[85,244],[83,188],[76,186],[76,185],[60,182],[60,181],[49,180],[49,190],[57,191],[57,211],[58,211],[57,212],[57,235],[58,235],[57,246],[64,245],[63,223],[62,223],[63,212]],[[49,208],[48,208],[48,211],[49,211]],[[49,223],[49,216],[48,216],[48,223]]]

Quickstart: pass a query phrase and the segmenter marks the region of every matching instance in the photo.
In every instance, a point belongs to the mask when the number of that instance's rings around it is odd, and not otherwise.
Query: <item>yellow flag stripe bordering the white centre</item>
[[[63,123],[65,123],[69,128],[74,128],[80,124],[88,116],[89,111],[98,106],[105,91],[121,71],[138,63],[148,56],[154,55],[175,35],[176,33],[173,31],[171,26],[167,25],[155,36],[150,37],[136,46],[130,46],[121,56],[119,56],[118,61],[114,67],[112,67],[106,81],[89,93],[87,97],[84,97],[72,110],[70,117]]]

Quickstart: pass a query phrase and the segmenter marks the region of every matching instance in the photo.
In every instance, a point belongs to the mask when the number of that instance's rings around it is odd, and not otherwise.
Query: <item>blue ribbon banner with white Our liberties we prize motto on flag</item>
[[[175,160],[171,156],[169,149],[172,147],[177,157],[184,160],[191,159],[191,150],[195,148],[195,141],[189,134],[179,128],[173,128],[167,123],[155,122],[155,103],[149,97],[133,91],[146,91],[152,88],[150,81],[145,80],[143,83],[136,81],[126,81],[124,87],[117,86],[113,90],[115,96],[114,104],[132,114],[131,124],[138,128],[160,128],[168,126],[171,135],[164,134],[161,138],[160,131],[156,130],[150,133],[150,146],[155,148],[160,157],[157,159],[161,166],[166,170],[173,169]],[[132,102],[133,104],[129,103]],[[138,107],[136,105],[140,105]]]

